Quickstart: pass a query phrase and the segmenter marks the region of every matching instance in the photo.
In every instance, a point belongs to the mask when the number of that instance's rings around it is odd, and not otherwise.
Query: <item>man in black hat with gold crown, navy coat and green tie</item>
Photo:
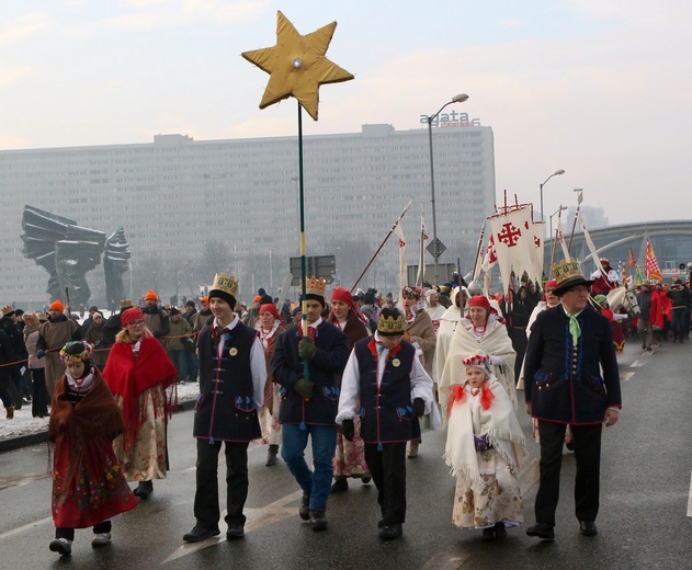
[[[608,319],[588,307],[589,286],[579,262],[554,266],[560,304],[541,312],[531,329],[525,361],[526,412],[538,421],[541,475],[536,524],[529,536],[555,539],[563,443],[571,428],[577,476],[576,515],[583,536],[598,533],[601,431],[617,422],[620,374]],[[601,372],[602,371],[602,372]]]

